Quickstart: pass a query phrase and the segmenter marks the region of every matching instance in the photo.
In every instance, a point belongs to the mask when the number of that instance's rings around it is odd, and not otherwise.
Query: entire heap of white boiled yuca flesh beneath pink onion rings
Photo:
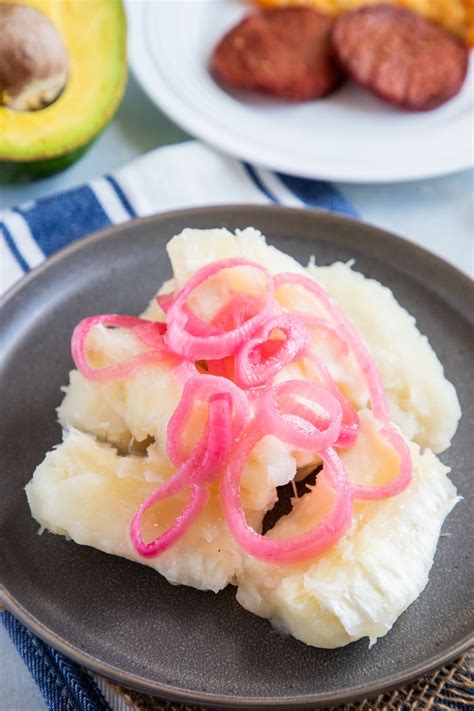
[[[46,456],[27,486],[33,516],[44,528],[77,543],[149,565],[172,583],[214,591],[237,584],[244,607],[307,644],[336,647],[363,636],[382,636],[426,585],[441,525],[456,502],[448,470],[430,451],[449,446],[460,416],[455,390],[438,358],[391,291],[345,264],[310,265],[307,272],[267,246],[253,228],[236,235],[186,229],[167,249],[173,279],[160,293],[181,288],[204,265],[229,257],[246,257],[272,274],[309,273],[321,283],[351,319],[381,372],[391,417],[413,442],[413,482],[394,498],[356,502],[346,536],[321,557],[291,567],[263,564],[240,551],[227,531],[214,486],[187,534],[157,558],[143,559],[130,543],[130,520],[173,472],[166,457],[166,426],[181,387],[163,362],[111,383],[87,381],[71,371],[58,409],[64,441]],[[209,305],[212,298],[208,289],[205,308],[211,311],[219,306],[217,297]],[[315,311],[314,300],[301,290],[283,288],[278,298],[284,306]],[[144,316],[164,319],[154,299]],[[99,327],[88,338],[88,356],[95,367],[119,362],[143,348],[121,329]],[[342,453],[349,474],[360,484],[384,483],[398,462],[364,410],[368,394],[360,374],[349,358],[331,362],[330,346],[324,355],[344,394],[360,410],[357,445]],[[305,377],[304,369],[288,366],[279,379],[291,377]],[[134,454],[137,446],[140,456]],[[242,501],[252,525],[258,528],[273,506],[276,486],[290,481],[296,466],[307,462],[273,437],[263,438],[242,478]],[[148,512],[145,536],[165,530],[185,500],[182,494]],[[305,530],[330,502],[320,475],[311,493],[296,500],[292,512],[267,535],[286,537]]]

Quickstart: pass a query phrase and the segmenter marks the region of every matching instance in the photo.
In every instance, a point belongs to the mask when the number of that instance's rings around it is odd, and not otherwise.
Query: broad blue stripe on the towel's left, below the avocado
[[[110,225],[94,192],[84,185],[43,198],[31,207],[15,208],[31,230],[46,257],[72,240]]]

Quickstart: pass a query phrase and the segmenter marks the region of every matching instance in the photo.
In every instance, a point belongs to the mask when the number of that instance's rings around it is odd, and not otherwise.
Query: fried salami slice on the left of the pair
[[[333,23],[307,7],[247,15],[215,48],[211,70],[232,87],[289,101],[325,96],[343,77],[331,43]]]

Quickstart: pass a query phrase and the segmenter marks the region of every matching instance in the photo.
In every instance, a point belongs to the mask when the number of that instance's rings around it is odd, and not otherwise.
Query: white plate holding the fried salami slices
[[[207,70],[213,47],[248,11],[231,0],[129,0],[129,57],[150,98],[214,147],[273,170],[353,182],[414,180],[474,164],[474,62],[461,93],[410,113],[348,82],[286,104],[227,92]],[[471,53],[472,54],[472,53]]]

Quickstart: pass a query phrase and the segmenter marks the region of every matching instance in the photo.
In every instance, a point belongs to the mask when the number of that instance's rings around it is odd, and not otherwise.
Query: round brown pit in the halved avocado
[[[43,109],[61,94],[67,75],[66,46],[51,20],[29,5],[0,2],[0,106]]]

